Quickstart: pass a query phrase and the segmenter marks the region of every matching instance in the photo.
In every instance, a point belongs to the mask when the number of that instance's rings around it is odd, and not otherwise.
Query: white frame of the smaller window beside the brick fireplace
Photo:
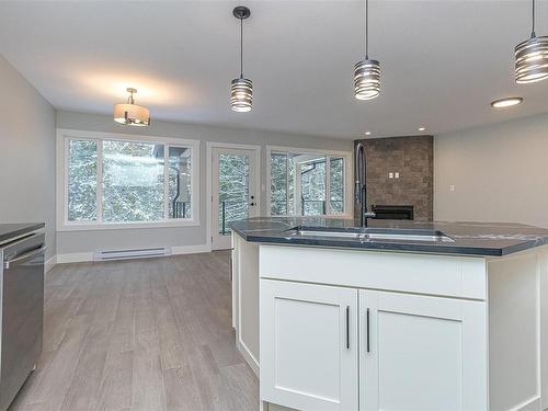
[[[266,146],[266,215],[269,217],[306,217],[306,216],[292,216],[278,215],[273,216],[271,213],[271,169],[272,169],[272,155],[273,153],[298,153],[298,155],[323,155],[326,156],[326,214],[317,215],[316,217],[326,218],[351,218],[353,217],[353,194],[352,194],[352,170],[353,170],[353,153],[352,151],[338,151],[338,150],[321,150],[308,149],[299,147],[283,147],[283,146]],[[331,212],[331,158],[344,159],[344,213],[330,214]],[[312,216],[309,216],[312,217]]]

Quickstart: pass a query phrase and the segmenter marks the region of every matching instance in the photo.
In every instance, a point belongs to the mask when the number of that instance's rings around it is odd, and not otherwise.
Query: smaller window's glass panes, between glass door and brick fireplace
[[[272,216],[344,215],[349,155],[270,149]],[[329,201],[328,201],[329,198]]]

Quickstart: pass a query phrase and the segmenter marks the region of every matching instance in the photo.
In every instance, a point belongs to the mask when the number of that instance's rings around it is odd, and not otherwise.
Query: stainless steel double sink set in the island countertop
[[[286,230],[288,237],[322,237],[365,241],[422,241],[455,242],[439,230],[396,229],[396,228],[329,228],[329,227],[294,227]]]

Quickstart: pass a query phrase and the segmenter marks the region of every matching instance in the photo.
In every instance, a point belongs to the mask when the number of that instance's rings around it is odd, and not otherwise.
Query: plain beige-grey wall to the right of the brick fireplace
[[[436,136],[434,219],[548,228],[548,114]]]

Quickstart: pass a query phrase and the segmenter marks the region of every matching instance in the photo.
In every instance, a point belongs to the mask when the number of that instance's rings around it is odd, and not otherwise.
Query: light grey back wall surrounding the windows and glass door
[[[235,115],[239,115],[236,114]],[[243,114],[244,115],[244,114]],[[315,136],[289,135],[273,132],[209,127],[182,123],[155,122],[150,127],[117,125],[111,116],[58,111],[57,127],[103,133],[139,134],[170,138],[201,140],[199,147],[199,227],[144,228],[128,230],[58,231],[59,254],[90,253],[96,250],[139,247],[192,247],[206,243],[206,141],[238,142],[246,145],[273,145],[352,151],[353,141],[327,139]],[[265,184],[265,149],[261,152],[261,185]],[[265,192],[260,196],[261,214],[265,213]]]

